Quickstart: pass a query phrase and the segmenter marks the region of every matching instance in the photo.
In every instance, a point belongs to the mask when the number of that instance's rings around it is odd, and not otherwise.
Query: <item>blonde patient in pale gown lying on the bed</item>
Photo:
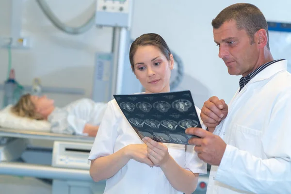
[[[106,103],[97,103],[87,98],[59,108],[54,106],[54,100],[46,96],[26,94],[11,111],[21,117],[48,120],[51,131],[55,133],[96,136],[105,108]]]

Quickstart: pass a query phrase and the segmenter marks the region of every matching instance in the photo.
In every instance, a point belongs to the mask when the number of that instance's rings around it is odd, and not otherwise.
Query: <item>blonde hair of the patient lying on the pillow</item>
[[[19,101],[12,107],[11,111],[21,117],[29,117],[36,120],[44,119],[40,113],[36,112],[36,107],[32,102],[30,94],[20,97]]]

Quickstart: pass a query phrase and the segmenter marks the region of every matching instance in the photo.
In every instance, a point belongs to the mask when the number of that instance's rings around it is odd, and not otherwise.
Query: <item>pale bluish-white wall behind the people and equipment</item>
[[[47,0],[48,1],[48,0]],[[53,12],[65,23],[79,26],[90,17],[94,0],[49,0]],[[181,3],[178,3],[181,2]],[[185,64],[180,89],[199,91],[194,100],[199,107],[212,95],[229,102],[238,88],[240,77],[229,76],[218,48],[213,42],[211,20],[226,6],[238,0],[134,0],[131,37],[146,32],[161,34],[170,49]],[[249,0],[257,5],[267,20],[291,22],[290,0]],[[0,35],[9,34],[9,0],[0,1]],[[57,30],[44,16],[35,0],[24,1],[22,35],[32,39],[29,50],[13,50],[17,80],[29,85],[40,77],[44,86],[84,88],[90,97],[94,53],[110,51],[110,28],[92,28],[81,35]],[[7,73],[7,51],[0,49],[0,82]],[[1,97],[1,96],[0,96]],[[82,96],[50,95],[58,105]],[[199,99],[198,99],[199,98]]]

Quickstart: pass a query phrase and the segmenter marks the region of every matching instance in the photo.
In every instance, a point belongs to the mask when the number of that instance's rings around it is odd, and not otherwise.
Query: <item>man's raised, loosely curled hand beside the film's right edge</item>
[[[228,113],[228,106],[224,99],[218,97],[210,97],[201,109],[200,117],[203,124],[213,132],[215,127],[226,118]]]

